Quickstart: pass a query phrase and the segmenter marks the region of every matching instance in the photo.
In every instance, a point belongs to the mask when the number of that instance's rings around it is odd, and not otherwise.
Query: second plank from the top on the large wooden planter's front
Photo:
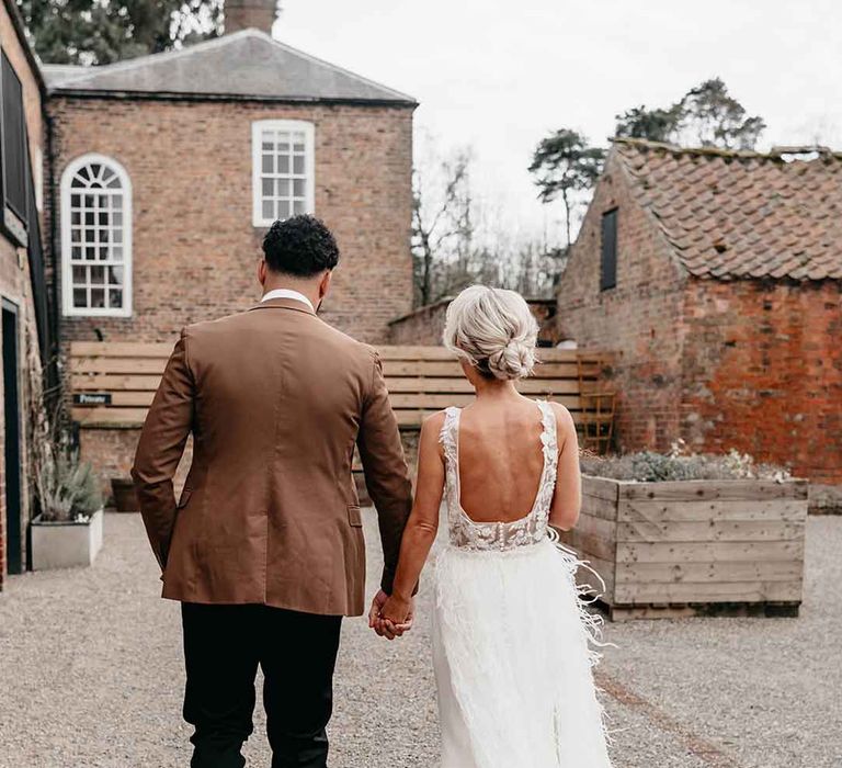
[[[712,501],[637,501],[621,499],[621,522],[709,521],[709,520],[783,520],[795,522],[807,517],[807,504],[798,499],[712,500]]]

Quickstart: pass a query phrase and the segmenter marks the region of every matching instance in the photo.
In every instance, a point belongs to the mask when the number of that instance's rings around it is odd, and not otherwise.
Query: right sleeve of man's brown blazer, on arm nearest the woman
[[[374,353],[374,371],[357,437],[365,485],[377,510],[384,568],[380,586],[391,594],[400,540],[412,510],[412,483],[403,458],[398,420],[389,404],[383,364]]]

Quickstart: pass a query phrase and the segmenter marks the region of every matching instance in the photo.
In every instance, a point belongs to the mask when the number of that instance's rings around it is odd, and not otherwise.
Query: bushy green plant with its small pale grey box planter
[[[66,440],[41,450],[35,472],[39,515],[32,521],[34,571],[93,563],[102,547],[102,494],[93,468]]]

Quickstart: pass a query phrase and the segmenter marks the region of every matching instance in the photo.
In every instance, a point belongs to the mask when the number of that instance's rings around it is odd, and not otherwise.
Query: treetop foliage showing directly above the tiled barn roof
[[[749,116],[720,78],[705,80],[669,108],[635,106],[617,115],[615,134],[678,145],[753,149],[766,124]]]

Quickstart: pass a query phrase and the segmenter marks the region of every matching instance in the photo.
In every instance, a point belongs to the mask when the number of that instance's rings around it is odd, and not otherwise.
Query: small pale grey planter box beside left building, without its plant
[[[32,521],[32,568],[73,568],[93,563],[102,549],[100,509],[88,522],[44,522],[41,515]]]

